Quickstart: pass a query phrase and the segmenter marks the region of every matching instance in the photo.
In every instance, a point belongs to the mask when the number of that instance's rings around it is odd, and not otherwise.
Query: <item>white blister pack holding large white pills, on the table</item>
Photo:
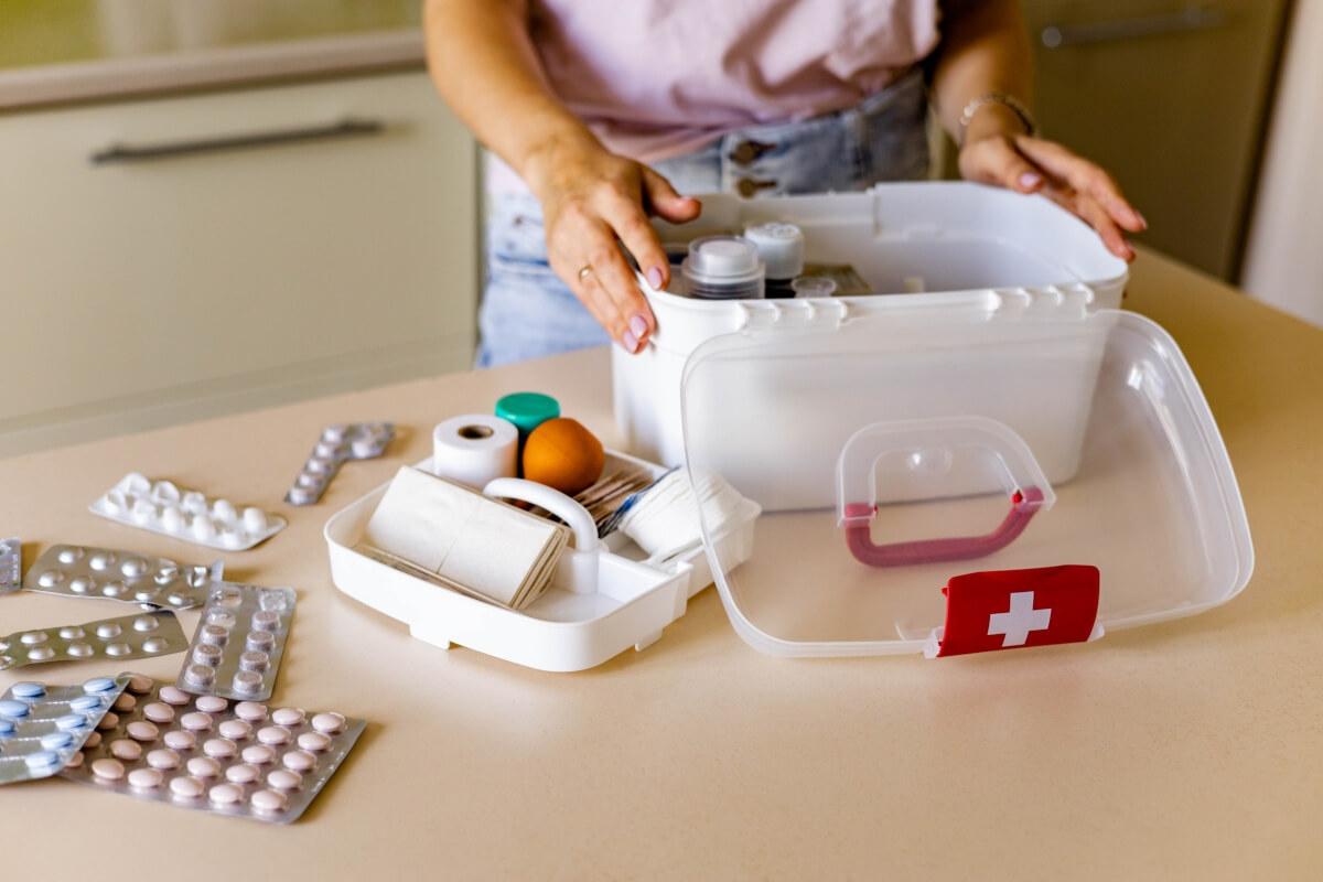
[[[242,551],[286,526],[279,514],[239,508],[171,481],[152,481],[130,472],[90,506],[93,514],[209,549]]]

